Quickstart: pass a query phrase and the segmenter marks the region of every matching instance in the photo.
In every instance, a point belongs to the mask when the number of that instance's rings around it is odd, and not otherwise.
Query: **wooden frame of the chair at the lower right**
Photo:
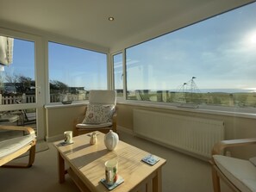
[[[256,138],[222,140],[221,142],[215,144],[212,150],[212,155],[221,155],[222,151],[228,147],[248,146],[253,144],[256,144]],[[227,183],[228,186],[233,189],[233,191],[240,192],[240,189],[236,188],[234,183],[230,182],[228,177],[226,177],[222,173],[222,170],[218,168],[218,166],[215,164],[214,158],[212,158],[209,162],[212,165],[212,182],[215,192],[221,192],[220,178],[222,178],[222,181]]]

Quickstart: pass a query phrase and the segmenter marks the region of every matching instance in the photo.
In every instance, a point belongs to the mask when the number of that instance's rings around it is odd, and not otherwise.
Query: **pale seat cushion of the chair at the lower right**
[[[215,164],[240,191],[256,191],[256,167],[248,160],[214,155]]]

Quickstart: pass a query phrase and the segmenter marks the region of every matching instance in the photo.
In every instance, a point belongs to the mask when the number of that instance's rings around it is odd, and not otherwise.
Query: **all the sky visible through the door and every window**
[[[256,91],[256,3],[127,49],[128,90],[176,90],[191,77],[200,90]],[[49,77],[69,86],[107,88],[107,56],[49,43]],[[116,88],[122,88],[122,57]],[[118,59],[117,59],[118,60]],[[34,42],[15,40],[9,75],[34,79]]]

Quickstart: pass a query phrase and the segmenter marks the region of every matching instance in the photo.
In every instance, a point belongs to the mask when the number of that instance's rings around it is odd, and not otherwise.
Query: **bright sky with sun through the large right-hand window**
[[[127,50],[128,90],[256,90],[256,3]]]

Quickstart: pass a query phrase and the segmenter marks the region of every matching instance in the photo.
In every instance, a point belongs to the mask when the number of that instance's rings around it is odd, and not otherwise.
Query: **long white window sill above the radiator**
[[[256,119],[256,108],[248,109],[246,112],[245,108],[228,108],[228,107],[220,107],[220,106],[200,106],[199,108],[184,108],[174,106],[170,103],[161,103],[161,102],[140,102],[140,101],[128,101],[122,100],[117,101],[118,104],[124,105],[132,105],[132,106],[140,106],[140,107],[148,107],[148,108],[162,108],[162,109],[171,109],[185,112],[193,112],[200,114],[209,114],[209,115],[225,115],[232,117],[243,117],[243,118],[251,118]],[[244,109],[245,111],[242,111]],[[254,112],[254,113],[253,113]]]

